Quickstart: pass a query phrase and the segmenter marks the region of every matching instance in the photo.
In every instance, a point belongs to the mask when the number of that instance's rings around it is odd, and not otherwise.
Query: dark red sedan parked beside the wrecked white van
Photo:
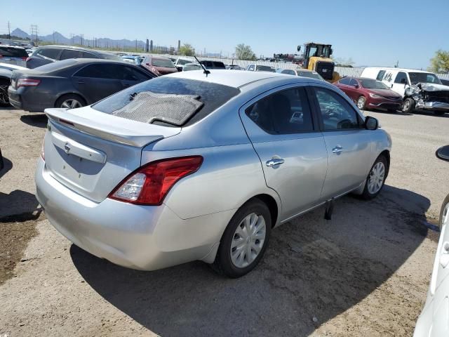
[[[360,110],[381,108],[396,112],[402,109],[402,96],[381,81],[364,77],[343,77],[334,85],[354,100]]]

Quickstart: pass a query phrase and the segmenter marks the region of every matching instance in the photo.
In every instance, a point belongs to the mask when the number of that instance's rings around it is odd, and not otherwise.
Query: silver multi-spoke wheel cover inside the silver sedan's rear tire
[[[267,233],[263,216],[250,213],[237,226],[231,242],[231,260],[239,268],[253,263],[264,246]]]

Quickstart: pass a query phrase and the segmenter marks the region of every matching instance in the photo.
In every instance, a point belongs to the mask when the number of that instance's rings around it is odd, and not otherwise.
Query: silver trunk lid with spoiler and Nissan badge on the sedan
[[[142,148],[175,136],[168,128],[81,109],[46,109],[46,170],[65,187],[95,202],[104,200],[141,165]]]

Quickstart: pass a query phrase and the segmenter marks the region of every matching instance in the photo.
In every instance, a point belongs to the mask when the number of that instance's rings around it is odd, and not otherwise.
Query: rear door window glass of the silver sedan
[[[245,113],[257,126],[274,135],[314,130],[304,88],[292,88],[264,97],[248,107]]]

